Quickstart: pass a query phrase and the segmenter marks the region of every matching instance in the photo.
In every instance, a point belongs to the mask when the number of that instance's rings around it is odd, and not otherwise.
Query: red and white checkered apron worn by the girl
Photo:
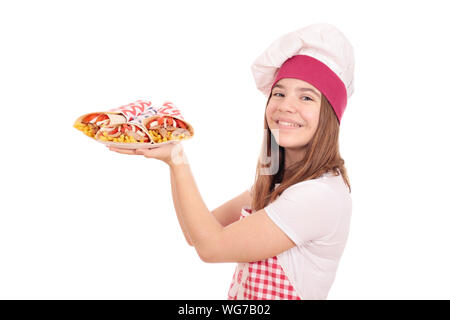
[[[240,219],[251,213],[243,207]],[[301,300],[277,256],[262,261],[238,263],[228,291],[228,300]]]

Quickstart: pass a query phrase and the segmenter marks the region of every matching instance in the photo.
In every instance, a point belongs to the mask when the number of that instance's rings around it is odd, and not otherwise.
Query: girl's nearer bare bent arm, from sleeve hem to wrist
[[[175,182],[181,220],[203,261],[258,261],[295,246],[264,209],[224,227],[203,202],[189,164],[172,161],[168,164]]]

